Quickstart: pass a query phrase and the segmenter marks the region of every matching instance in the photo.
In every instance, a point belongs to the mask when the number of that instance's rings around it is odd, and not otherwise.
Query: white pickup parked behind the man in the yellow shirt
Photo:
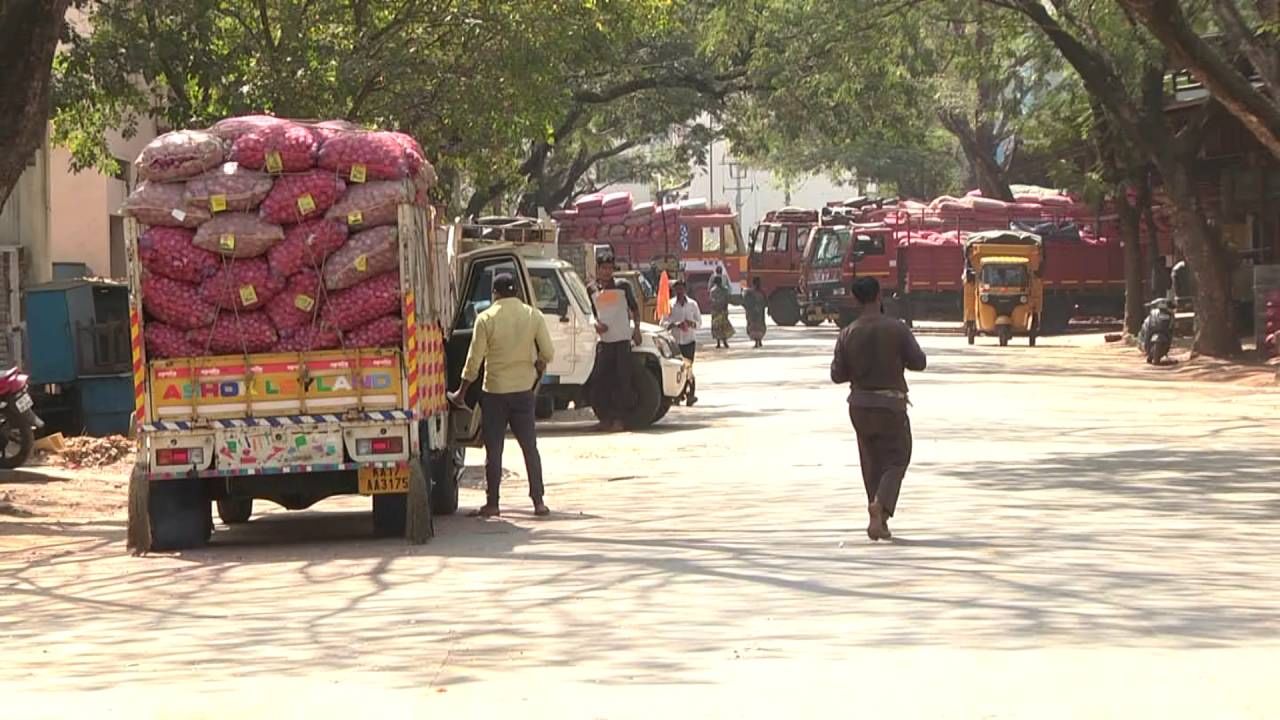
[[[595,369],[598,342],[586,284],[573,265],[559,258],[554,233],[554,228],[524,218],[485,218],[463,227],[463,247],[499,247],[498,243],[509,242],[524,259],[532,288],[531,301],[547,316],[547,328],[556,345],[556,360],[547,368],[539,391],[538,415],[541,419],[570,405],[590,406],[588,384]],[[475,316],[489,306],[492,282],[486,281],[492,281],[494,273],[515,272],[515,266],[494,264],[472,272],[485,273],[484,278],[467,283],[480,295],[467,299],[470,310],[463,301],[463,319],[454,333],[465,332],[462,325],[467,318],[474,324]],[[689,383],[689,370],[671,334],[649,324],[641,325],[640,334],[641,342],[632,354],[637,364],[632,375],[637,402],[625,420],[630,429],[648,428],[664,418],[684,397]]]

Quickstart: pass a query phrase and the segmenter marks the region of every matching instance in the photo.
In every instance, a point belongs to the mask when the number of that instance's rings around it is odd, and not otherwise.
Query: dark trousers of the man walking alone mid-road
[[[911,420],[900,410],[858,406],[850,406],[849,419],[858,432],[867,502],[878,498],[884,514],[892,518],[902,475],[911,464]]]

